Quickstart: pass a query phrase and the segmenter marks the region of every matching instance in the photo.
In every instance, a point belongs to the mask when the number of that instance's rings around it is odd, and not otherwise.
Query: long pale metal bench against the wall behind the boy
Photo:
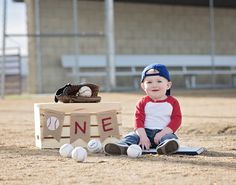
[[[80,73],[76,75],[95,78],[107,76],[106,56],[81,55],[78,58]],[[236,56],[217,55],[213,71],[209,55],[117,55],[115,57],[116,77],[131,77],[134,87],[138,87],[137,79],[143,68],[151,63],[165,64],[172,76],[183,77],[186,88],[209,88],[211,84],[201,84],[197,79],[201,76],[211,78],[212,75],[228,76],[229,84],[224,87],[236,86]],[[63,55],[61,64],[64,68],[71,70],[69,75],[73,75],[72,69],[76,66],[75,55]]]

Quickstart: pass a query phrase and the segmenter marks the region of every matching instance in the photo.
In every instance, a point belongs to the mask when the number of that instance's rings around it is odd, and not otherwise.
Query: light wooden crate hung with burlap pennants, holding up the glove
[[[35,143],[38,148],[60,148],[65,143],[87,146],[90,139],[118,140],[120,103],[36,103]]]

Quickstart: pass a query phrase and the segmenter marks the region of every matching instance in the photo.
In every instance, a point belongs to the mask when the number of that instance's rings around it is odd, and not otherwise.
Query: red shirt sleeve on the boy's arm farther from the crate
[[[180,110],[179,102],[176,99],[172,99],[171,104],[173,106],[173,111],[171,114],[171,121],[167,125],[167,127],[171,128],[175,133],[176,130],[180,127],[182,122],[182,113]]]

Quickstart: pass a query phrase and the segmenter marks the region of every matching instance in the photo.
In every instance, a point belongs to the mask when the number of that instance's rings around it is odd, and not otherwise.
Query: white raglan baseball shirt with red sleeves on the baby
[[[182,114],[179,102],[173,96],[154,101],[143,97],[136,105],[134,128],[164,129],[169,127],[173,133],[180,127]]]

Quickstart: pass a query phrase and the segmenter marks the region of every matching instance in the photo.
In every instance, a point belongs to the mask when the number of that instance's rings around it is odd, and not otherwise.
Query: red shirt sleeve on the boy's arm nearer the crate
[[[134,129],[137,128],[144,128],[144,121],[145,121],[145,105],[146,101],[145,98],[142,98],[135,107],[135,122],[134,122]]]

